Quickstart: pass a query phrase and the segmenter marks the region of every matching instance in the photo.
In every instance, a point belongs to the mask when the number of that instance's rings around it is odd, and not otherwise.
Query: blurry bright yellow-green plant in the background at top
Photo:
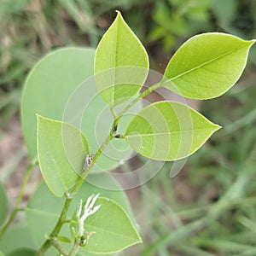
[[[212,1],[169,0],[158,1],[152,11],[153,24],[148,32],[148,42],[161,40],[166,52],[177,46],[179,38],[189,37],[211,28]]]

